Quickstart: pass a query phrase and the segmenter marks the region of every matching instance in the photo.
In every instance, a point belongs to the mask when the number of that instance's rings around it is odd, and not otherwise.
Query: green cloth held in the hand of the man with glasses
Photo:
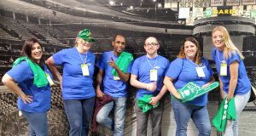
[[[150,105],[149,102],[151,101],[151,97],[153,95],[143,95],[142,98],[137,99],[137,105],[138,107],[143,109],[143,113],[146,113],[147,111],[154,109],[159,106],[159,102],[157,102],[156,105]]]

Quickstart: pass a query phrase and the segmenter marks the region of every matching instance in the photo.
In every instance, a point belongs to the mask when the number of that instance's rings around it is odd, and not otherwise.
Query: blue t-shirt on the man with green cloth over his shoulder
[[[122,80],[113,80],[113,75],[111,73],[113,67],[108,65],[108,61],[113,57],[114,61],[119,59],[119,56],[115,56],[113,51],[105,52],[102,54],[101,58],[97,61],[96,66],[104,71],[103,77],[103,92],[112,97],[123,97],[127,95],[127,83]],[[131,65],[128,65],[127,73],[131,73]]]

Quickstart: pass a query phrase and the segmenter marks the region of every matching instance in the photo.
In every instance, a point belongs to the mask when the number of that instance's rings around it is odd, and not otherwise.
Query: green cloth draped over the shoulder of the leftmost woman
[[[41,69],[41,67],[37,63],[34,63],[31,59],[28,59],[27,57],[20,57],[15,60],[13,67],[15,67],[16,65],[19,65],[20,62],[22,61],[26,61],[30,66],[34,75],[33,84],[35,86],[37,86],[38,88],[41,88],[48,85],[49,82],[47,80],[45,72]]]

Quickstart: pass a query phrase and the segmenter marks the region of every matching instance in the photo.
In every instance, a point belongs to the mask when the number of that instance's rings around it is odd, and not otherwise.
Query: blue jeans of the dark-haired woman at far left
[[[29,123],[30,136],[48,136],[47,112],[21,112]]]

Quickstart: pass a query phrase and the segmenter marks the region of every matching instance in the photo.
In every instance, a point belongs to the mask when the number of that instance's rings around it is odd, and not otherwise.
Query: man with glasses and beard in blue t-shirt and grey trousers
[[[152,96],[148,104],[149,106],[152,105],[153,109],[143,112],[136,101],[137,135],[147,135],[148,117],[150,116],[152,135],[160,136],[164,110],[164,100],[161,98],[167,91],[166,86],[163,85],[163,80],[169,66],[169,60],[157,54],[160,44],[155,37],[148,37],[145,40],[144,48],[147,54],[137,58],[132,65],[131,85],[138,88],[137,99]]]

